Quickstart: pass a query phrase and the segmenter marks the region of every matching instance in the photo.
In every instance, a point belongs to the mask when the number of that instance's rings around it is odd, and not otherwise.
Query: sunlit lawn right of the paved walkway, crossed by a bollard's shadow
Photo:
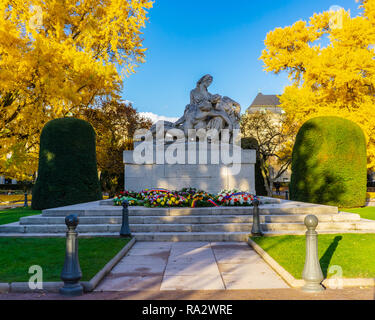
[[[302,279],[305,236],[252,238],[296,279]],[[343,278],[375,278],[375,234],[320,234],[320,266],[326,278],[330,266],[338,265]]]

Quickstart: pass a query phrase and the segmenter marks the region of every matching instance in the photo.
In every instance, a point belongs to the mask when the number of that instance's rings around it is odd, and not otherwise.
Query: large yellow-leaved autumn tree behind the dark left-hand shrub
[[[0,175],[29,179],[51,119],[116,100],[150,0],[0,0]]]

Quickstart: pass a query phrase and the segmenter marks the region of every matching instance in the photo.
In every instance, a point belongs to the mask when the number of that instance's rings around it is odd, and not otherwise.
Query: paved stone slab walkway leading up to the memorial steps
[[[97,292],[286,289],[241,242],[137,242]]]

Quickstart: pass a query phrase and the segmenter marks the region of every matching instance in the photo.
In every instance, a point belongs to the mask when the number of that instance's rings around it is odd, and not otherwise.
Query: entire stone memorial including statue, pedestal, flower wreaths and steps
[[[198,80],[177,121],[136,131],[134,149],[123,152],[125,187],[114,198],[49,206],[0,225],[0,233],[63,236],[71,213],[80,217],[83,236],[118,236],[123,229],[137,241],[243,242],[251,234],[304,234],[307,215],[319,217],[320,232],[375,230],[374,221],[336,206],[257,195],[256,151],[240,146],[241,106],[210,93],[212,82],[211,75]]]

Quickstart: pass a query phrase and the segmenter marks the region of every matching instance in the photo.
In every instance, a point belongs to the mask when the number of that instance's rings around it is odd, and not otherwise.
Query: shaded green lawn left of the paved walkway
[[[124,238],[79,239],[82,281],[89,281],[127,243]],[[43,269],[43,281],[61,281],[64,238],[0,238],[0,282],[27,282],[30,266]]]

